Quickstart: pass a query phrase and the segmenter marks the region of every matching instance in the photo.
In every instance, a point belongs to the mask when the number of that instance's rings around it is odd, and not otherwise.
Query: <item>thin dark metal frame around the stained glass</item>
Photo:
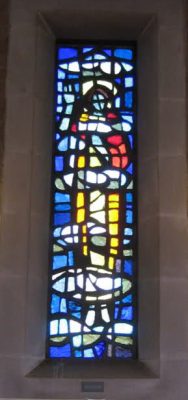
[[[56,154],[56,141],[55,141],[55,132],[56,132],[56,128],[57,128],[57,122],[55,120],[55,104],[56,104],[56,98],[57,98],[57,86],[56,86],[56,72],[57,72],[57,52],[58,49],[61,46],[76,46],[76,47],[83,47],[83,46],[99,46],[99,50],[101,47],[110,47],[110,48],[117,48],[117,47],[129,47],[129,49],[133,49],[133,64],[134,64],[134,72],[131,73],[131,75],[134,77],[134,107],[133,107],[133,111],[134,111],[134,135],[135,135],[135,142],[134,142],[134,151],[133,151],[133,163],[134,163],[134,173],[133,173],[133,181],[134,181],[134,202],[133,202],[133,215],[134,215],[134,241],[133,241],[133,262],[134,262],[134,274],[133,274],[133,280],[132,280],[132,293],[133,293],[133,308],[134,308],[134,359],[138,358],[138,231],[137,231],[137,220],[138,220],[138,211],[137,211],[137,137],[136,137],[136,133],[137,133],[137,113],[138,113],[138,105],[137,105],[137,45],[135,41],[93,41],[93,40],[86,40],[86,41],[78,41],[78,40],[57,40],[56,42],[56,56],[55,56],[55,78],[54,78],[54,127],[53,127],[53,145],[52,145],[52,171],[51,171],[51,210],[50,210],[50,243],[49,243],[49,282],[48,282],[48,301],[47,301],[47,307],[48,307],[48,317],[47,317],[47,332],[46,332],[46,359],[47,360],[57,360],[57,361],[63,361],[63,363],[68,363],[68,364],[93,364],[93,363],[115,363],[118,364],[119,363],[125,363],[128,361],[131,361],[133,358],[131,359],[121,359],[121,358],[102,358],[102,359],[77,359],[77,358],[50,358],[48,356],[48,346],[49,346],[49,337],[48,337],[48,326],[49,326],[49,321],[51,319],[51,312],[50,312],[50,297],[51,297],[51,263],[52,263],[52,256],[53,256],[53,251],[52,251],[52,246],[53,246],[53,236],[52,236],[52,227],[53,227],[53,217],[54,217],[54,210],[52,208],[52,204],[53,204],[53,199],[54,199],[54,178],[56,176],[56,172],[54,169],[54,158],[55,158],[55,154]],[[125,227],[125,224],[124,224]]]

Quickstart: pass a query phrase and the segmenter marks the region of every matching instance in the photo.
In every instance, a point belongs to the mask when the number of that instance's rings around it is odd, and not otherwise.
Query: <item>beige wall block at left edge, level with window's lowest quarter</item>
[[[0,276],[1,354],[21,354],[24,349],[26,281],[16,275]]]

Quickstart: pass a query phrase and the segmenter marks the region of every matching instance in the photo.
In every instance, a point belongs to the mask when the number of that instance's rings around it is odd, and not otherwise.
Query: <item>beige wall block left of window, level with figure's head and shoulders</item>
[[[5,146],[9,151],[28,153],[32,147],[33,99],[31,95],[10,95],[7,101]]]

